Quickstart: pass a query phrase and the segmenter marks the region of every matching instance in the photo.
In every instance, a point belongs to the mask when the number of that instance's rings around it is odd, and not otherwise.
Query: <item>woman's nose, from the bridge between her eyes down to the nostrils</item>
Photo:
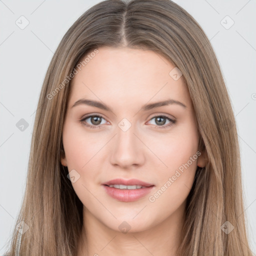
[[[123,118],[116,127],[116,133],[111,155],[112,164],[120,166],[141,164],[143,149],[141,141],[134,135],[134,133],[136,134],[135,124]]]

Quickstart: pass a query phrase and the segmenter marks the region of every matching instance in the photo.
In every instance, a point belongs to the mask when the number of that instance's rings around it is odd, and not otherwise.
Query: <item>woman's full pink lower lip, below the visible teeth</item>
[[[103,185],[105,191],[108,195],[123,202],[132,202],[136,201],[139,198],[145,196],[150,192],[153,186],[148,186],[144,188],[137,188],[137,189],[119,189],[115,187],[110,187],[107,185]]]

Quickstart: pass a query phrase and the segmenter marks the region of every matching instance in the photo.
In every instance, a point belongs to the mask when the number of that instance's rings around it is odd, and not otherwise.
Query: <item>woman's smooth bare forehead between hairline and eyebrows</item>
[[[183,77],[174,80],[169,74],[173,68],[164,56],[151,50],[99,47],[80,70],[76,68],[69,105],[81,97],[142,104],[171,97],[189,107],[190,96]]]

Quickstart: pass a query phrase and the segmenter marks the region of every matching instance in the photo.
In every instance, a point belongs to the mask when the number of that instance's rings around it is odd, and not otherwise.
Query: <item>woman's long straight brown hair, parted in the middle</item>
[[[82,203],[67,178],[67,167],[60,163],[62,127],[77,64],[100,51],[100,46],[151,49],[183,73],[200,150],[206,152],[208,162],[196,170],[177,255],[252,255],[236,125],[222,74],[201,27],[170,0],[99,2],[63,36],[47,69],[36,110],[26,189],[16,222],[27,230],[21,237],[14,229],[10,255],[15,250],[27,256],[77,253]]]

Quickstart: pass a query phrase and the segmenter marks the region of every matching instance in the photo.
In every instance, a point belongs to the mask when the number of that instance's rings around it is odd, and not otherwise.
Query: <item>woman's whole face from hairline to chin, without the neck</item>
[[[100,47],[72,80],[61,163],[84,210],[113,230],[123,221],[146,230],[182,212],[196,167],[205,164],[174,67],[150,50]],[[116,178],[147,185],[105,185]]]

